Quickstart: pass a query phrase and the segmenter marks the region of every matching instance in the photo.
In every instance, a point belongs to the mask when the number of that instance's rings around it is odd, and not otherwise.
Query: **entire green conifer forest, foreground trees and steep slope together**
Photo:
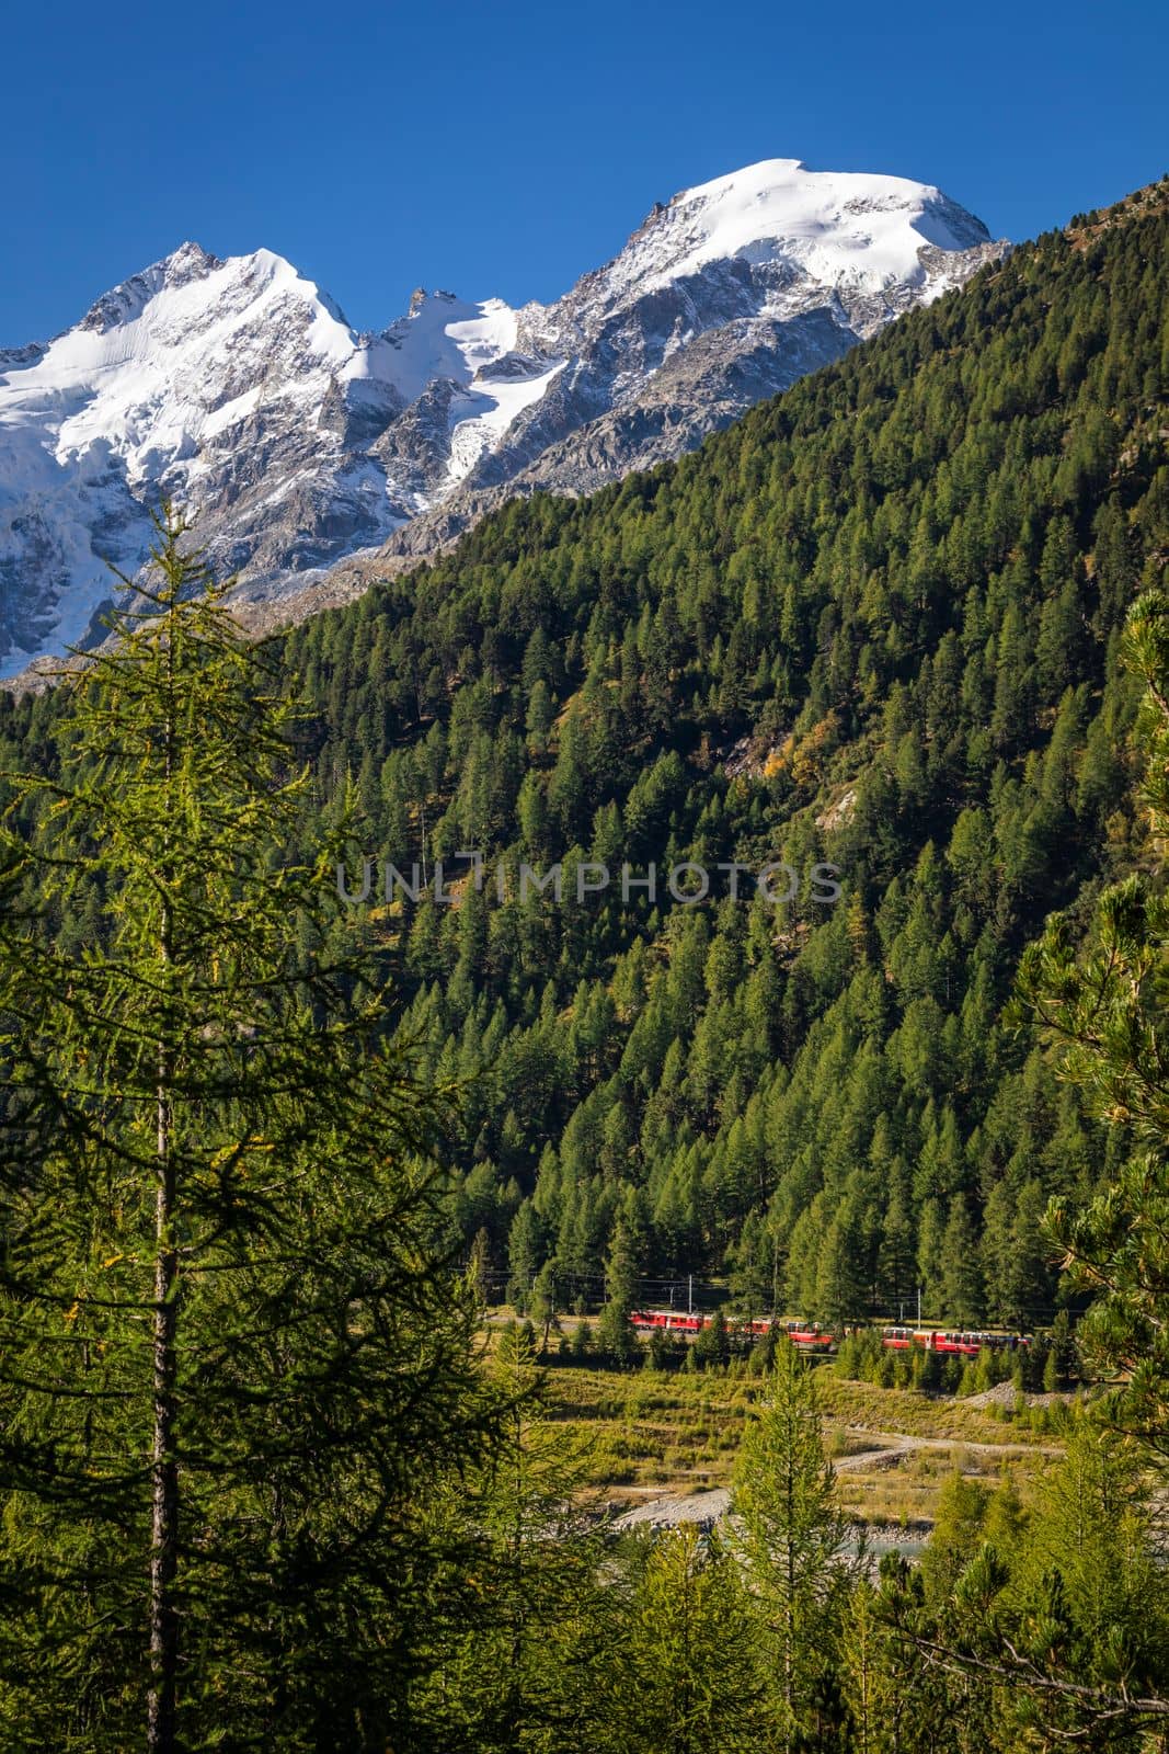
[[[4,1747],[1169,1747],[1167,246],[265,640],[166,509],[0,696]],[[878,1563],[822,1382],[917,1316],[1080,1394]],[[752,1377],[729,1519],[615,1533],[561,1317]]]

